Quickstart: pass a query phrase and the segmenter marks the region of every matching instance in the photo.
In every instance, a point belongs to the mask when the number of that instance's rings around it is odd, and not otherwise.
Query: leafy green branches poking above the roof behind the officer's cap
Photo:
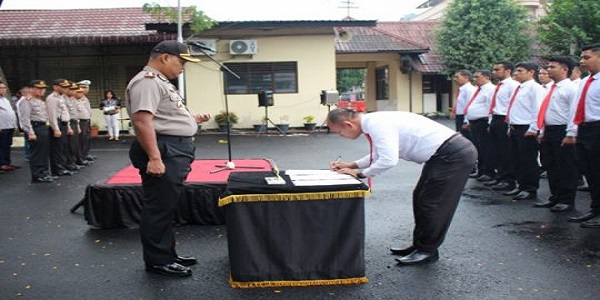
[[[146,3],[142,6],[142,9],[159,22],[177,23],[177,7],[162,7],[156,3]],[[198,10],[195,5],[182,7],[181,18],[182,22],[189,21],[190,30],[193,34],[198,34],[217,24],[203,11]]]

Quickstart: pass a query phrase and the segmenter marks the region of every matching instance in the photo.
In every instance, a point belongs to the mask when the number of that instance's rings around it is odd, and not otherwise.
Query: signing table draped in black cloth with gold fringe
[[[269,185],[273,172],[229,175],[225,208],[232,287],[360,284],[364,183]]]

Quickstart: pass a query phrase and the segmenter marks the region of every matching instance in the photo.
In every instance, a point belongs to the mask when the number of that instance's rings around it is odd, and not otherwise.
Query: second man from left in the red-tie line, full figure
[[[491,81],[492,73],[488,70],[475,72],[473,78],[477,89],[465,107],[465,121],[463,130],[471,133],[471,142],[477,148],[477,170],[478,181],[489,182],[496,177],[496,171],[490,164],[489,146],[490,134],[488,123],[490,117],[490,105],[496,86]]]

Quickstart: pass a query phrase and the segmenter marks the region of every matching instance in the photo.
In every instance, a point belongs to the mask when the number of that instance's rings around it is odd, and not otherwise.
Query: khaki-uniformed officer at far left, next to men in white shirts
[[[50,131],[48,127],[48,110],[44,94],[48,87],[43,80],[29,83],[31,97],[19,101],[19,124],[27,135],[30,145],[29,167],[31,182],[52,182],[48,161],[50,157]]]

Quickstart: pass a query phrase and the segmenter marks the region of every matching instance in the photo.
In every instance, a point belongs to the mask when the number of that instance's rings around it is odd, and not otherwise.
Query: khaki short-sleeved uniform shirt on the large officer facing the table
[[[154,115],[154,130],[158,134],[191,137],[198,130],[196,119],[175,86],[149,66],[131,79],[125,97],[130,116],[138,111]]]

